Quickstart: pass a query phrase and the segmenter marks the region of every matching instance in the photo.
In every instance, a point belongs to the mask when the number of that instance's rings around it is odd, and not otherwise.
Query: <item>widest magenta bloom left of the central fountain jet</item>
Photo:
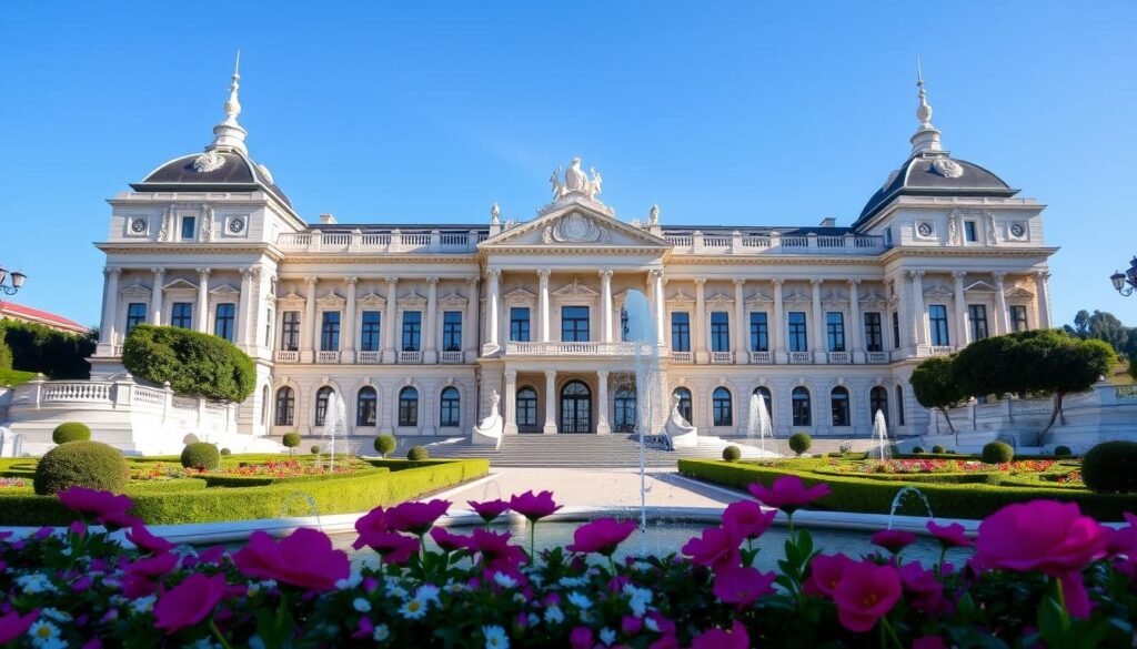
[[[233,555],[242,574],[302,589],[325,591],[347,579],[351,563],[343,550],[332,548],[327,534],[300,529],[277,543],[265,532],[254,532],[248,543]]]

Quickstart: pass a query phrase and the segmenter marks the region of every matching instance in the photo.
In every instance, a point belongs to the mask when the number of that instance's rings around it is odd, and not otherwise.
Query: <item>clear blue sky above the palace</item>
[[[300,214],[406,223],[530,218],[580,155],[625,219],[848,225],[908,153],[921,55],[945,147],[1049,206],[1055,321],[1137,324],[1107,280],[1137,253],[1135,2],[319,5],[5,3],[18,301],[98,323],[103,199],[210,141],[238,48]]]

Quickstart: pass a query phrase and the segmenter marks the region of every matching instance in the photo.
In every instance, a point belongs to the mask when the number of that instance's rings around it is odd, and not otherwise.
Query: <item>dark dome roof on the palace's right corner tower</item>
[[[883,186],[872,194],[854,227],[868,221],[897,195],[990,195],[1010,197],[1019,193],[1003,178],[966,160],[946,152],[918,155],[893,172]]]

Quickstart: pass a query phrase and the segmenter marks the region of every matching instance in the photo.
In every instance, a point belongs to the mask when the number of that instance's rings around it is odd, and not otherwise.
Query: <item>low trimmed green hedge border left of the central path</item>
[[[299,493],[312,497],[321,515],[367,511],[439,491],[489,473],[485,459],[432,460],[429,466],[405,471],[365,472],[329,476],[304,484],[246,488],[193,488],[181,480],[158,481],[155,486],[126,492],[134,499],[131,514],[150,525],[217,523],[250,518],[279,518]],[[319,476],[323,477],[323,476]],[[186,479],[192,480],[192,479]],[[205,484],[201,480],[196,480]],[[174,484],[179,483],[179,484]],[[160,485],[160,486],[159,486]],[[307,506],[307,502],[304,504]],[[305,510],[300,515],[307,515]],[[58,498],[24,493],[0,494],[0,525],[66,525],[73,513]]]

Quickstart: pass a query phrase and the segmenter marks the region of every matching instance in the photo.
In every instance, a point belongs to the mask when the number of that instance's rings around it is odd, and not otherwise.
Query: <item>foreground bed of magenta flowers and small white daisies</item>
[[[400,472],[401,473],[401,472]],[[60,494],[84,522],[65,534],[0,539],[0,643],[16,647],[1128,647],[1137,618],[1137,516],[1119,531],[1077,505],[1031,501],[988,516],[976,539],[929,522],[933,566],[905,559],[906,532],[872,535],[865,557],[819,551],[796,510],[829,494],[783,476],[752,485],[790,517],[779,568],[753,567],[773,521],[754,500],[680,555],[615,561],[634,522],[600,518],[573,543],[533,556],[488,523],[506,509],[533,524],[558,506],[549,492],[471,504],[485,529],[433,524],[449,502],[376,508],[356,523],[357,548],[381,557],[351,572],[313,530],[262,532],[235,552],[174,548],[131,523],[131,501]],[[130,525],[125,549],[88,527]],[[439,546],[426,551],[426,536]],[[956,548],[972,547],[973,555]],[[531,546],[530,546],[531,547]]]

